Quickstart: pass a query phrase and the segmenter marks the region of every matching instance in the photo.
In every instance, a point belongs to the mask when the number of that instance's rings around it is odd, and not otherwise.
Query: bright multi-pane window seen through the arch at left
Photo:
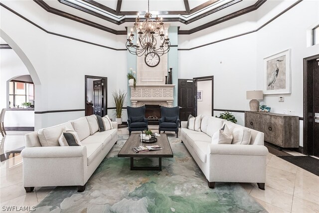
[[[33,83],[25,82],[9,82],[9,107],[22,106],[23,102],[31,102],[34,100]]]

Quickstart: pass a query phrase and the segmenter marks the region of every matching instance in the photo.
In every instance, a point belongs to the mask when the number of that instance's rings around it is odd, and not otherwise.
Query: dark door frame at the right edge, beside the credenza
[[[314,155],[314,94],[310,91],[313,88],[314,74],[309,69],[309,64],[319,58],[319,54],[304,58],[304,154]],[[311,85],[310,82],[311,81]],[[311,110],[312,109],[312,110]]]

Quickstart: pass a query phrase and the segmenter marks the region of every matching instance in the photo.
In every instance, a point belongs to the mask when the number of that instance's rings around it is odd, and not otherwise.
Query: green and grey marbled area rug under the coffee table
[[[168,135],[174,158],[162,159],[162,171],[131,171],[129,158],[117,154],[129,135],[103,160],[86,190],[57,187],[37,206],[41,213],[262,213],[266,212],[239,184],[216,183],[205,176],[181,140]],[[158,164],[139,159],[137,164]]]

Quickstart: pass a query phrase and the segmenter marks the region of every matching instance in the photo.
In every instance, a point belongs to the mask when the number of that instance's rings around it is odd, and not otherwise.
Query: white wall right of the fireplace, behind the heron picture
[[[268,1],[267,1],[268,2]],[[267,3],[266,2],[266,3]],[[274,7],[261,6],[261,10],[282,11],[294,1],[282,1]],[[266,4],[267,5],[267,4]],[[276,13],[262,13],[258,10],[256,26],[270,20]],[[298,15],[296,15],[298,14]],[[265,95],[261,104],[267,104],[272,112],[283,113],[284,109],[296,110],[303,117],[303,58],[319,53],[319,45],[308,46],[309,30],[319,21],[319,1],[305,0],[288,10],[257,32],[217,42],[201,48],[179,51],[180,72],[178,78],[214,75],[214,108],[230,110],[249,110],[246,100],[247,90],[263,89],[263,59],[288,48],[292,49],[292,93],[289,95]],[[232,29],[240,32],[240,26]],[[251,26],[251,25],[250,25]],[[226,30],[226,29],[225,29]],[[208,29],[207,29],[208,31]],[[219,31],[220,32],[220,31]],[[212,42],[218,31],[202,35],[194,33],[187,42],[185,35],[178,39],[179,48],[189,48]],[[228,37],[228,34],[224,34]],[[220,37],[218,37],[220,38]],[[193,46],[192,46],[193,45]],[[195,73],[195,74],[194,74]],[[285,96],[285,102],[278,102]],[[219,115],[221,112],[214,112]],[[238,123],[244,125],[243,113],[233,113]],[[303,146],[303,122],[300,122],[300,146]]]

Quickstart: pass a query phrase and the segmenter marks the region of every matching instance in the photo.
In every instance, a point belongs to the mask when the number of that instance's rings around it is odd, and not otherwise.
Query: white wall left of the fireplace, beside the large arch
[[[58,30],[61,34],[74,35],[72,34],[74,28],[69,28],[69,20],[61,19],[63,21],[56,23],[54,22],[57,18],[56,15],[47,12],[45,12],[47,18],[43,18],[43,9],[32,1],[10,1],[6,4],[35,20],[36,23],[42,24],[44,28],[50,29],[52,27],[52,31]],[[30,10],[23,9],[22,4],[27,4]],[[35,83],[35,111],[84,109],[85,75],[108,78],[108,107],[114,107],[112,91],[119,88],[126,90],[127,88],[126,51],[116,51],[48,34],[3,7],[0,7],[0,10],[1,30],[12,40],[7,41],[8,44],[15,49],[15,43],[21,49],[39,78],[39,83]],[[30,11],[33,12],[30,13]],[[116,44],[119,42],[119,37],[123,37],[103,32],[104,40],[102,40],[103,36],[97,37],[94,34],[97,29],[88,28],[84,24],[77,26],[77,30],[86,31],[86,39],[90,38],[89,40],[92,42],[96,39],[98,43],[105,41],[103,45]],[[33,78],[34,74],[33,76],[32,73],[30,74]],[[41,89],[37,89],[37,86]],[[76,119],[80,116],[84,116],[84,111],[36,114],[35,129]]]

